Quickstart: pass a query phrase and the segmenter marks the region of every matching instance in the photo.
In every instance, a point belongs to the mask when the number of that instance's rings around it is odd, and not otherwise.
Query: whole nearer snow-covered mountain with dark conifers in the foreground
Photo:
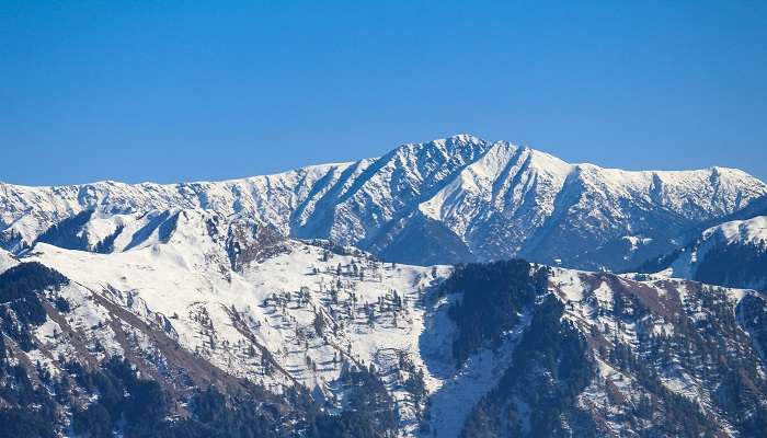
[[[92,431],[87,413],[104,406],[99,422],[140,436],[99,383],[125,384],[126,406],[146,392],[115,357],[160,382],[172,403],[145,423],[181,434],[169,436],[194,436],[184,422],[219,427],[201,401],[210,384],[230,410],[252,397],[267,436],[335,436],[329,424],[353,436],[753,436],[765,419],[758,292],[522,261],[384,263],[203,209],[89,222],[116,235],[111,251],[39,242],[0,275],[0,380],[25,388],[26,372],[42,389],[0,397],[51,403],[39,415],[65,434]]]

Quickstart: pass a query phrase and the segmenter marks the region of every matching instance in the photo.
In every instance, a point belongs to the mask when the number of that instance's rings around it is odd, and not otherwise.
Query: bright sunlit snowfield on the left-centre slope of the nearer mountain
[[[181,211],[179,227],[167,244],[150,238],[128,251],[95,254],[38,243],[30,260],[51,266],[75,280],[75,287],[61,292],[73,303],[75,328],[89,330],[112,319],[87,298],[99,293],[141,316],[148,324],[161,315],[186,349],[198,351],[234,376],[264,381],[277,392],[281,385],[291,384],[289,379],[308,388],[319,384],[329,390],[341,371],[341,367],[332,365],[333,358],[344,357],[347,345],[356,362],[375,364],[382,369],[390,365],[391,354],[403,351],[416,367],[426,369],[420,355],[414,354],[425,330],[425,314],[431,312],[419,304],[420,295],[445,278],[450,268],[392,266],[373,262],[363,253],[333,254],[323,261],[324,250],[287,241],[285,252],[252,263],[240,273],[232,272],[220,243],[209,238],[207,217],[207,212],[199,210]],[[351,272],[353,262],[365,268],[366,277],[344,274],[335,304],[329,290],[339,279],[336,268],[342,265],[344,273]],[[309,291],[310,298],[308,303],[299,306],[296,297],[301,290]],[[368,325],[359,314],[362,306],[377,303],[379,298],[390,297],[394,290],[405,301],[405,310],[398,314],[398,321],[382,312],[375,324]],[[286,306],[276,306],[272,297],[287,293],[291,298]],[[351,295],[357,302],[354,310],[357,316],[352,322],[343,316],[344,303],[350,301]],[[313,334],[316,312],[323,314],[328,326],[337,324],[340,327],[327,333],[327,341]],[[234,315],[245,322],[247,328],[238,327]],[[46,325],[39,336],[49,337],[50,331]],[[304,335],[299,338],[297,332]],[[245,354],[247,346],[252,343],[249,333],[259,345],[272,351],[288,376],[268,377],[261,372],[261,360]],[[119,345],[110,338],[114,339],[114,334],[108,325],[94,331],[94,341],[99,339],[107,354],[121,354]],[[150,348],[148,339],[139,342]],[[318,365],[317,371],[307,367],[307,357]],[[425,379],[431,382],[430,388],[439,387],[428,372]],[[401,399],[403,420],[410,415],[411,427],[414,427],[405,395],[394,391],[394,396]]]

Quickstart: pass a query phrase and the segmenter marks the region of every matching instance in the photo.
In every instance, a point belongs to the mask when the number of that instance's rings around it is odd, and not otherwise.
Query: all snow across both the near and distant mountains
[[[424,371],[432,394],[432,426],[440,437],[456,436],[476,402],[497,384],[530,315],[522,315],[523,323],[505,335],[500,348],[481,349],[455,369],[450,355],[455,327],[447,308],[456,297],[428,299],[450,267],[392,265],[362,251],[335,254],[322,249],[321,242],[309,244],[299,238],[366,244],[389,238],[380,233],[392,221],[402,220],[407,227],[407,220],[420,212],[447,227],[477,250],[479,258],[504,258],[539,246],[560,251],[533,237],[547,235],[553,228],[546,227],[562,223],[571,223],[579,237],[595,242],[622,239],[632,252],[653,239],[646,230],[664,226],[661,220],[645,223],[651,218],[645,208],[695,221],[732,212],[767,193],[764,183],[736,170],[602,169],[468,135],[402,145],[380,158],[354,163],[216,183],[2,184],[0,188],[1,237],[16,253],[49,226],[88,208],[95,209],[82,230],[90,249],[122,229],[110,254],[38,243],[24,255],[24,261],[39,261],[72,279],[56,292],[72,307],[67,321],[64,326],[51,320],[39,326],[35,337],[42,347],[30,353],[51,372],[53,357],[77,356],[71,345],[57,338],[64,330],[84,333],[84,348],[98,358],[125,353],[115,327],[145,351],[152,350],[152,339],[112,314],[104,304],[107,300],[233,376],[264,382],[275,392],[306,385],[327,397],[331,411],[340,408],[344,397],[336,359],[374,365],[398,401],[402,433],[411,436],[417,426],[414,406],[394,372],[404,355]],[[156,222],[168,217],[178,217],[178,223],[163,237]],[[266,258],[232,270],[226,239],[238,221],[268,224],[293,238]],[[763,217],[709,229],[706,242],[684,253],[663,276],[689,274],[689,266],[712,244],[709,240],[759,243],[766,228]],[[22,241],[11,239],[13,233]],[[556,257],[551,260],[558,264],[569,263],[566,256]],[[0,250],[0,272],[16,263]],[[354,274],[353,266],[365,274]],[[653,284],[663,276],[646,281],[616,277],[621,286],[616,290],[615,283],[596,276],[558,267],[551,278],[552,292],[565,303],[563,318],[585,335],[619,325],[616,338],[636,347],[638,331],[674,331],[662,319],[616,324],[609,314],[616,293],[640,286],[652,288],[663,300],[675,299]],[[672,287],[683,304],[691,299],[684,281],[672,280]],[[394,291],[404,301],[401,311],[389,304]],[[731,290],[733,304],[746,293],[751,292]],[[367,318],[366,304],[375,318]],[[314,326],[318,319],[325,324],[323,333]],[[279,369],[265,373],[261,350],[251,353],[253,347],[268,350]],[[597,358],[603,379],[631,400],[636,389],[630,376],[603,359]],[[668,388],[707,396],[695,379],[666,371],[663,382]],[[603,400],[599,391],[594,383],[588,395]],[[522,412],[525,408],[520,406]]]

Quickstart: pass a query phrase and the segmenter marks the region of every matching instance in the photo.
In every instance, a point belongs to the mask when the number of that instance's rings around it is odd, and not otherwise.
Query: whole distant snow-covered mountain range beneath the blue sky
[[[733,214],[765,194],[765,183],[733,169],[602,169],[459,135],[403,145],[377,159],[217,183],[2,184],[0,244],[18,253],[69,219],[78,234],[69,242],[93,250],[114,229],[80,229],[92,221],[73,220],[78,214],[195,208],[401,263],[525,256],[620,270],[666,252],[679,230]]]

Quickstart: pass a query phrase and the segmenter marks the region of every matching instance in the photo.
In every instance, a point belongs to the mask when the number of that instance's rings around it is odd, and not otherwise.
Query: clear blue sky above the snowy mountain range
[[[286,3],[0,1],[0,181],[220,180],[458,132],[767,180],[765,1]]]

